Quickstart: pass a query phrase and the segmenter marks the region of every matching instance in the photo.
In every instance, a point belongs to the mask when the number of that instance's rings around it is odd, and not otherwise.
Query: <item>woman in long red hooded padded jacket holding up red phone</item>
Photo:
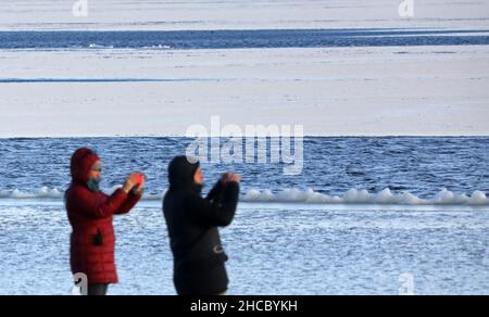
[[[99,189],[102,163],[96,152],[78,149],[72,156],[72,183],[65,203],[73,232],[71,236],[72,272],[88,278],[88,294],[104,295],[116,283],[115,234],[113,215],[128,213],[142,194],[142,185],[129,176],[112,195]]]

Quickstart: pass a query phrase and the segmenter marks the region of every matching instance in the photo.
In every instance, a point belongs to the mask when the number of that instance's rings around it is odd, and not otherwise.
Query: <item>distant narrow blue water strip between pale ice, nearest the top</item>
[[[244,49],[489,45],[489,29],[0,31],[0,49]],[[471,34],[471,35],[468,35]]]

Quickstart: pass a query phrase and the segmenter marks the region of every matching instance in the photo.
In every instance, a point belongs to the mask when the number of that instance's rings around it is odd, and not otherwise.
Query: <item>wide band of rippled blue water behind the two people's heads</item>
[[[223,139],[225,141],[225,139]],[[166,166],[185,153],[184,138],[86,138],[0,140],[0,191],[35,193],[42,187],[63,190],[70,183],[70,156],[87,145],[104,162],[103,188],[121,185],[139,170],[150,194],[167,188]],[[204,164],[208,182],[231,170],[249,190],[306,190],[341,195],[350,189],[411,192],[429,199],[443,188],[457,194],[489,192],[489,138],[306,138],[303,172],[284,175],[284,164]],[[268,144],[269,150],[269,144]],[[246,152],[244,152],[246,153]]]

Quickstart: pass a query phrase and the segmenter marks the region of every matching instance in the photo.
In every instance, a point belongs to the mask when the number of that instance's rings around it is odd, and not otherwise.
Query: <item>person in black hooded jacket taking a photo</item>
[[[199,163],[175,157],[168,166],[170,189],[163,200],[174,256],[174,283],[179,295],[225,294],[229,283],[217,227],[229,226],[236,213],[240,177],[224,174],[202,198]]]

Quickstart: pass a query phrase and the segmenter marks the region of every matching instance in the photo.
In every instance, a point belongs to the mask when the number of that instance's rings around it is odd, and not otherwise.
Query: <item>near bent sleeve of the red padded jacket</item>
[[[91,218],[106,218],[115,214],[124,202],[127,194],[122,189],[117,189],[112,195],[101,200],[101,195],[95,195],[88,190],[77,190],[71,195],[71,205]]]

